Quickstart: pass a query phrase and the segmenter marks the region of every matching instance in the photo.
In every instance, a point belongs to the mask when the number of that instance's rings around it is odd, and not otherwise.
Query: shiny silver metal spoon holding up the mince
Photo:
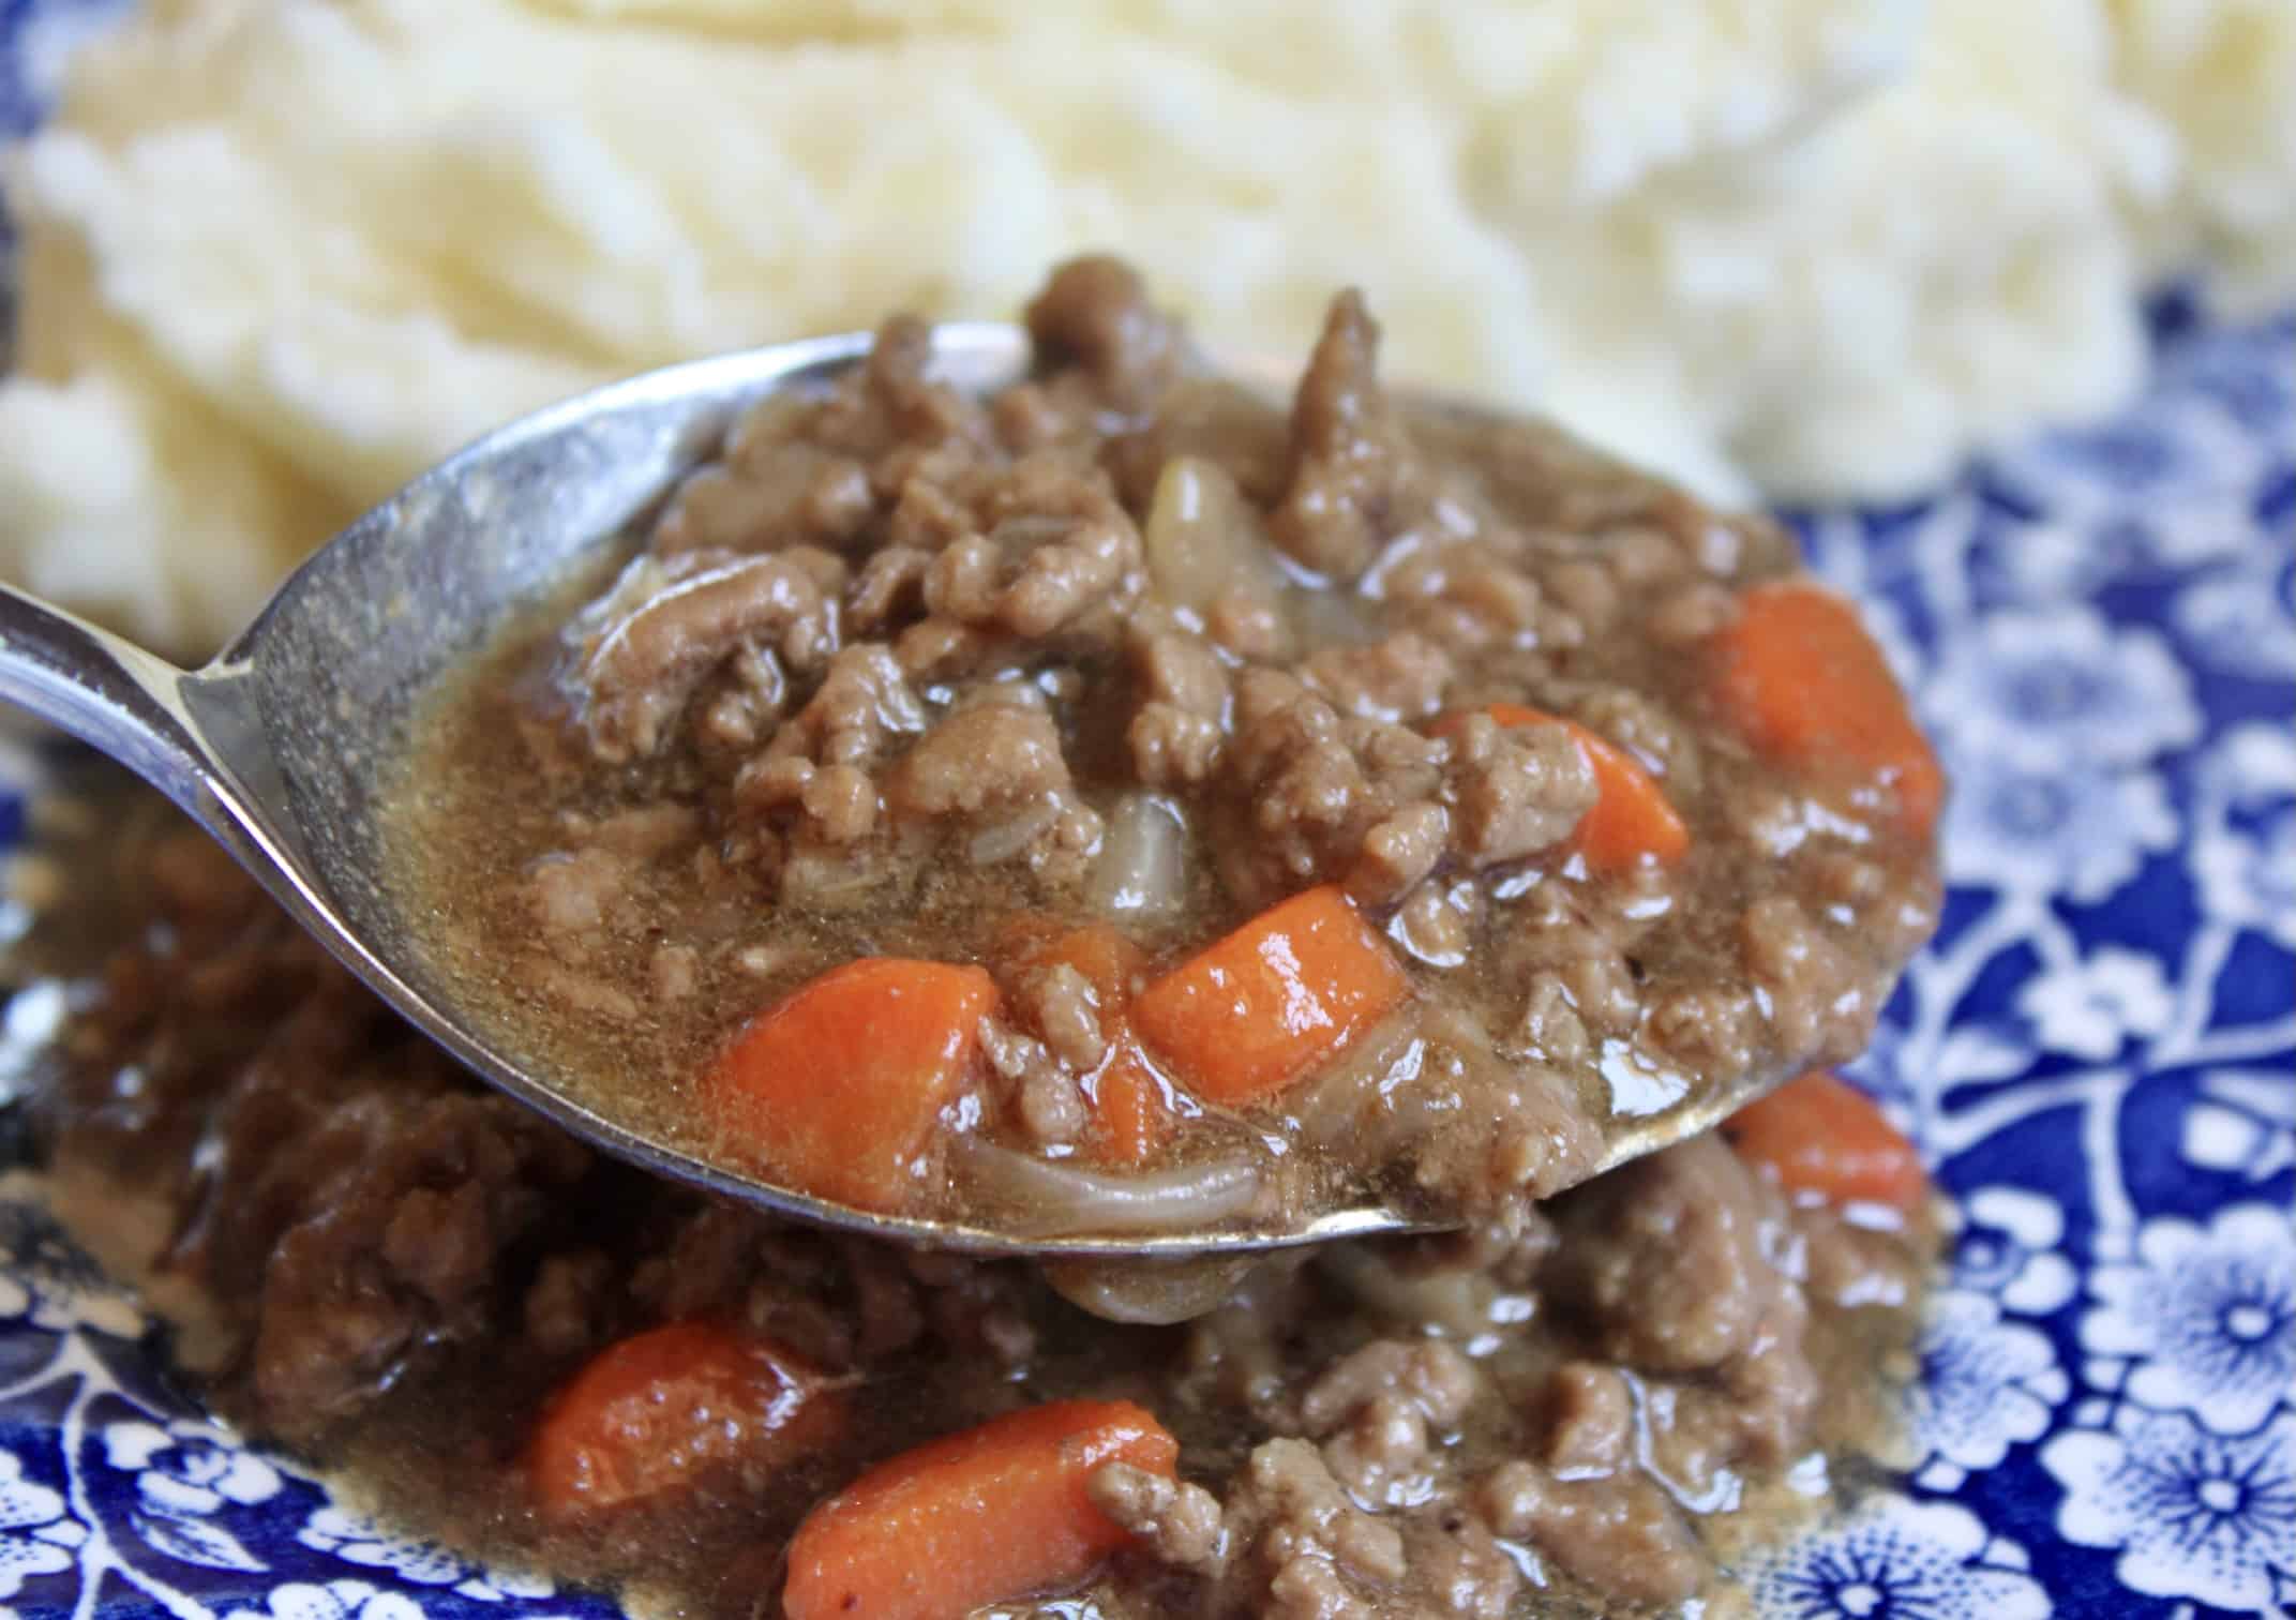
[[[482,1017],[422,948],[409,895],[386,881],[379,805],[425,693],[517,606],[565,578],[579,553],[627,532],[716,450],[735,415],[762,395],[824,385],[868,346],[854,333],[675,365],[489,434],[342,530],[197,670],[0,585],[0,700],[94,743],[188,810],[289,916],[482,1081],[659,1175],[870,1237],[1079,1262],[1242,1257],[1456,1225],[1371,1200],[1302,1209],[1286,1225],[1120,1237],[852,1209],[574,1101],[558,1076],[519,1060],[514,1033]],[[946,381],[985,392],[1026,372],[1029,342],[1013,326],[941,326],[934,358]],[[1598,1168],[1715,1124],[1770,1078],[1665,1099],[1642,1117],[1621,1113]]]

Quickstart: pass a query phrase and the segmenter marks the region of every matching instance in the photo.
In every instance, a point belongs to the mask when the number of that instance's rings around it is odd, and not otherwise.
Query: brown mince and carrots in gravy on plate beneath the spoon
[[[569,863],[620,877],[537,904],[611,916],[689,835],[613,815]],[[1722,1599],[1731,1549],[1876,1466],[1929,1237],[1903,1143],[1846,1090],[1120,1326],[1024,1262],[599,1159],[452,1072],[197,835],[119,858],[129,943],[34,1099],[53,1182],[126,1230],[106,1248],[220,1411],[457,1549],[728,1620],[1651,1613]],[[1015,968],[1017,1067],[1107,1062],[1100,973]],[[1348,1060],[1458,1039],[1424,1030]],[[1830,1170],[1812,1108],[1853,1147]]]

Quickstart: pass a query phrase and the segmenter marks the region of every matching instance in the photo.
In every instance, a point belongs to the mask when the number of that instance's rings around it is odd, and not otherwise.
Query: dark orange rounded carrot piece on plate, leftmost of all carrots
[[[732,1462],[820,1448],[843,1420],[822,1374],[716,1322],[673,1322],[602,1349],[551,1395],[526,1446],[544,1512],[659,1496]]]

